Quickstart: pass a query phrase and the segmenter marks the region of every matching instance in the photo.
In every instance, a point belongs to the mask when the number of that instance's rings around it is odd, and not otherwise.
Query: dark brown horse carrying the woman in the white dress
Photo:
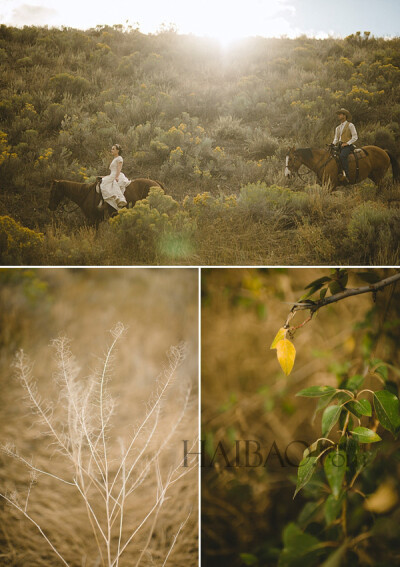
[[[125,198],[128,206],[133,207],[137,201],[145,199],[151,187],[161,187],[165,191],[164,186],[159,181],[144,178],[131,181],[125,189]],[[116,213],[116,210],[107,203],[104,203],[103,206],[101,205],[102,197],[96,191],[96,183],[54,180],[50,189],[49,209],[55,211],[64,198],[76,203],[82,209],[89,223],[96,226],[104,220],[106,214],[110,216]]]

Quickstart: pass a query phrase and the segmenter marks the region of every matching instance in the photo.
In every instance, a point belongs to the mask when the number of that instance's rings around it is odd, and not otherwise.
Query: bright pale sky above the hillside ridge
[[[0,0],[0,22],[79,29],[123,24],[143,33],[164,25],[222,43],[257,35],[345,37],[356,31],[399,37],[400,0]]]

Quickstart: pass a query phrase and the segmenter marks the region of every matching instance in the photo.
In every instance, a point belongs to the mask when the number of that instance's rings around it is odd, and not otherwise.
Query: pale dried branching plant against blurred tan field
[[[179,388],[181,394],[179,414],[168,431],[163,431],[160,435],[160,415],[165,409],[166,396],[174,386],[177,369],[185,358],[183,344],[170,349],[168,362],[156,380],[156,387],[147,403],[144,418],[136,423],[127,440],[114,439],[112,421],[116,408],[108,383],[111,380],[116,347],[124,331],[121,323],[115,326],[111,331],[112,341],[100,370],[84,380],[80,378],[80,368],[71,352],[69,340],[62,337],[53,341],[57,359],[55,378],[60,392],[57,407],[40,396],[31,364],[24,352],[20,351],[16,357],[17,376],[24,388],[29,406],[41,422],[43,434],[49,438],[53,451],[59,452],[67,459],[69,467],[65,470],[70,471],[70,474],[65,473],[61,476],[51,470],[39,468],[35,466],[34,459],[24,457],[14,444],[6,443],[1,445],[2,451],[29,469],[30,482],[23,498],[15,490],[4,491],[0,496],[39,530],[64,565],[69,563],[29,509],[29,497],[33,486],[38,482],[38,477],[46,475],[79,493],[86,508],[101,564],[104,566],[118,567],[121,556],[135,537],[139,532],[147,530],[145,544],[137,554],[135,563],[136,567],[139,567],[147,553],[159,512],[167,500],[169,488],[197,466],[192,464],[183,467],[183,460],[176,462],[167,471],[164,469],[162,471],[160,466],[162,455],[191,403],[191,382],[186,380],[184,386]],[[176,396],[174,400],[176,405]],[[192,451],[195,444],[196,441],[193,442]],[[117,445],[119,456],[116,456],[115,451]],[[127,504],[131,503],[135,492],[143,487],[149,475],[155,475],[157,478],[156,492],[153,498],[146,500],[147,509],[137,510],[135,528],[129,530],[132,522],[126,521]],[[166,565],[187,519],[177,526],[162,565]]]

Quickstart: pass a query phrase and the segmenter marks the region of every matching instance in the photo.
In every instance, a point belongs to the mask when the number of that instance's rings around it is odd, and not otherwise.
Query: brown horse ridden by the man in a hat
[[[364,146],[361,150],[356,150],[356,153],[357,156],[354,153],[349,155],[351,184],[369,177],[379,187],[390,164],[393,181],[400,180],[400,166],[388,150],[382,150],[377,146]],[[317,175],[319,183],[329,184],[332,189],[341,184],[338,179],[341,168],[339,169],[337,160],[330,150],[290,148],[286,156],[285,176],[291,177],[293,173],[298,174],[301,165],[311,169]]]

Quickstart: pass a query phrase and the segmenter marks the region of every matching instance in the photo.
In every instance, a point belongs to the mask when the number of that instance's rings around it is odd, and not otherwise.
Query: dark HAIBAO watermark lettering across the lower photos
[[[191,451],[189,441],[184,440],[183,466],[189,466],[189,460],[197,456],[201,467],[256,468],[268,467],[274,461],[281,467],[297,468],[303,451],[308,447],[309,443],[302,440],[291,441],[286,447],[279,447],[276,441],[261,445],[255,439],[237,439],[233,443],[219,441],[210,450],[206,448],[206,441],[201,440],[200,450]]]

